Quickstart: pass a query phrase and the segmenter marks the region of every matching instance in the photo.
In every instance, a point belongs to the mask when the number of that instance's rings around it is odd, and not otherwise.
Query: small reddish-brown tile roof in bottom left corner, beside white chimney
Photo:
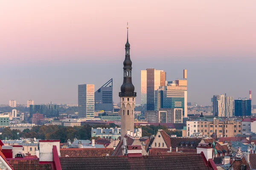
[[[39,159],[12,159],[9,162],[15,170],[52,170],[51,163],[39,164]]]

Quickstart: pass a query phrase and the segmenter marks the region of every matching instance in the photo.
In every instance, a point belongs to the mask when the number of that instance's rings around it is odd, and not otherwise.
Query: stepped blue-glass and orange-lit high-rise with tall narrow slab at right
[[[183,71],[186,77],[186,71]],[[182,108],[183,117],[187,117],[187,80],[186,78],[170,81],[155,91],[154,110],[160,108]]]

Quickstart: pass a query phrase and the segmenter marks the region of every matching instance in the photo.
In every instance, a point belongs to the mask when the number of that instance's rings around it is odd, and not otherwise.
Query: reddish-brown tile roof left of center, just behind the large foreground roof
[[[60,149],[61,157],[80,157],[80,156],[111,156],[113,148],[66,148]]]

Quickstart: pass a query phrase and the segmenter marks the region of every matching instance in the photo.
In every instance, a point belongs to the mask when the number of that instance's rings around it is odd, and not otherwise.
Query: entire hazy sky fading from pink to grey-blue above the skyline
[[[188,70],[188,102],[256,96],[255,0],[1,0],[0,104],[77,103],[77,85],[113,78],[119,101],[126,23],[133,83]],[[96,90],[96,89],[95,89]],[[256,104],[256,102],[253,102]]]

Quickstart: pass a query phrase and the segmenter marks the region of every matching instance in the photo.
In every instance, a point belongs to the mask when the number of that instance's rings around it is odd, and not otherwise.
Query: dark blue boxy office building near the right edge
[[[235,116],[251,116],[252,101],[247,98],[235,100]]]

